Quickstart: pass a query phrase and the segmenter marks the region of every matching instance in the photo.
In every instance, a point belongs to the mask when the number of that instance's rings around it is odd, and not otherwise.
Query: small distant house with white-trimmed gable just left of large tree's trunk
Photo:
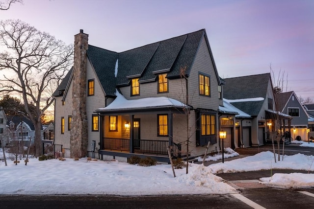
[[[9,128],[9,140],[31,140],[33,144],[35,128],[32,122],[23,116],[7,116],[7,126]],[[22,133],[22,134],[21,134]]]

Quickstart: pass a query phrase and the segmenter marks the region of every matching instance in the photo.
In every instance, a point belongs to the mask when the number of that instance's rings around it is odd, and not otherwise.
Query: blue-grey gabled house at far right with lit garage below
[[[277,103],[278,111],[292,117],[290,127],[288,127],[288,124],[285,127],[290,130],[291,138],[296,139],[299,136],[301,140],[308,141],[309,116],[296,94],[293,91],[279,93]]]

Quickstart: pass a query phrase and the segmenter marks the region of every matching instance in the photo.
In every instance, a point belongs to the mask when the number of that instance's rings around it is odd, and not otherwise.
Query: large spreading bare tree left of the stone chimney
[[[42,114],[53,103],[50,83],[61,79],[73,63],[73,46],[20,20],[0,22],[0,93],[21,95],[25,114],[35,128],[35,156],[42,152]],[[57,86],[55,86],[56,88]],[[34,108],[32,108],[34,107]]]

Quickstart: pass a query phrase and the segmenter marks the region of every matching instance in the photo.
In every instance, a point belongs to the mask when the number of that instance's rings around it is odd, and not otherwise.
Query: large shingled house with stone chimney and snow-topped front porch
[[[114,52],[75,36],[74,66],[53,93],[54,146],[65,157],[168,162],[217,150],[218,76],[205,29]],[[219,146],[218,146],[219,147]]]

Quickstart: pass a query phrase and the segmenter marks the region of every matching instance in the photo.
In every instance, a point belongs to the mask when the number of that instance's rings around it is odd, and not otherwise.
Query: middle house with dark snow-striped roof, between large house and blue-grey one
[[[277,120],[275,99],[270,73],[224,78],[224,100],[249,117],[236,118],[234,124],[227,129],[238,147],[259,146],[273,137],[274,124]],[[290,120],[290,116],[283,120]],[[238,123],[237,123],[238,122]],[[237,124],[237,125],[236,125]]]

